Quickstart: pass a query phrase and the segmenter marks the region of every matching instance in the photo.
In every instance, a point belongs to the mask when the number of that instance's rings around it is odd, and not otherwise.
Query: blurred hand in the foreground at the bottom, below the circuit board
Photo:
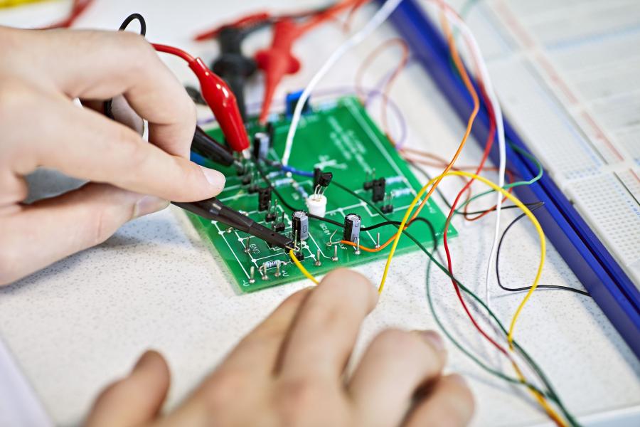
[[[169,368],[146,352],[102,392],[87,426],[465,426],[474,401],[461,376],[442,375],[435,332],[386,330],[346,376],[377,298],[363,276],[334,270],[284,301],[166,416]]]

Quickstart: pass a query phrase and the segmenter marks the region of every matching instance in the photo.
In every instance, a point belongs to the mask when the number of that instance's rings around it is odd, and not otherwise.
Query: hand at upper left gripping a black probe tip
[[[0,285],[105,241],[171,201],[218,194],[224,177],[188,161],[196,110],[134,33],[0,27]],[[88,107],[124,95],[149,121],[137,132]],[[37,167],[91,181],[23,205]]]

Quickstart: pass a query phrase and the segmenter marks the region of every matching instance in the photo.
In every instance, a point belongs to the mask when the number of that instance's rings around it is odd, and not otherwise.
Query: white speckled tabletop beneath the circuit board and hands
[[[205,58],[213,56],[213,47],[190,44],[191,28],[206,27],[213,17],[231,16],[240,7],[251,10],[260,6],[259,1],[233,6],[191,0],[182,1],[179,8],[151,0],[104,3],[98,1],[79,25],[116,28],[123,16],[139,11],[147,17],[149,38],[191,48]],[[286,6],[285,1],[273,3]],[[30,14],[1,12],[0,23],[36,25],[60,13],[60,8],[54,2],[37,6]],[[188,23],[193,26],[184,30]],[[392,33],[390,28],[376,33],[345,58],[322,86],[350,85],[358,58]],[[287,80],[286,88],[302,86],[340,37],[339,29],[329,26],[305,38],[297,51],[306,66],[300,75]],[[264,41],[252,39],[250,43],[259,46]],[[306,51],[316,55],[305,55]],[[179,63],[169,61],[169,65],[180,78],[190,79]],[[403,96],[409,93],[412,96]],[[259,95],[257,90],[250,97],[259,99]],[[393,96],[405,112],[409,144],[444,157],[452,154],[462,127],[417,67],[402,75]],[[372,113],[377,117],[378,112]],[[474,162],[479,154],[471,144],[461,162]],[[33,177],[32,190],[42,194],[68,184],[48,176]],[[449,196],[454,184],[444,184]],[[505,223],[515,215],[506,211]],[[493,218],[455,225],[461,237],[452,242],[454,269],[469,288],[481,292]],[[501,258],[501,273],[504,280],[521,285],[535,272],[537,237],[526,223],[511,233]],[[418,253],[395,258],[380,304],[358,339],[356,358],[373,334],[385,327],[437,329],[425,299],[426,266],[425,257]],[[376,281],[383,263],[358,270]],[[553,247],[548,249],[543,283],[580,286]],[[73,425],[82,420],[97,392],[127,372],[149,347],[159,349],[169,361],[173,384],[167,407],[176,405],[243,334],[284,297],[306,285],[301,282],[238,294],[221,261],[200,240],[184,214],[171,207],[132,221],[97,248],[1,289],[0,335],[53,421]],[[446,325],[495,363],[496,356],[471,331],[447,277],[433,272],[432,288],[436,309]],[[497,290],[492,295],[493,307],[503,320],[510,317],[522,296]],[[517,336],[553,381],[567,407],[586,417],[585,421],[600,425],[597,420],[614,418],[599,418],[599,413],[635,411],[640,406],[640,365],[589,298],[569,292],[537,292],[521,317]],[[546,421],[526,394],[488,376],[452,345],[449,352],[448,369],[464,374],[474,389],[476,425]]]

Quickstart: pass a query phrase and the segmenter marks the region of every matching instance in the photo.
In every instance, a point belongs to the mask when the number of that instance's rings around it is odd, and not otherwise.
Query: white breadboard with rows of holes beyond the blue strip
[[[508,119],[640,288],[640,1],[488,0],[467,20]]]

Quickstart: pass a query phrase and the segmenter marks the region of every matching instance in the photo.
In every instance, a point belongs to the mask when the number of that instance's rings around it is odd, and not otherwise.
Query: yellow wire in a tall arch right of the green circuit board
[[[525,206],[516,196],[513,196],[513,194],[510,194],[505,189],[494,184],[494,182],[489,181],[489,179],[486,179],[483,176],[471,174],[471,172],[465,172],[465,171],[447,172],[446,174],[442,174],[441,176],[444,177],[449,175],[467,176],[469,178],[476,179],[477,181],[480,181],[490,186],[495,191],[500,191],[503,194],[503,196],[513,201],[513,204],[516,204],[518,208],[522,209],[524,214],[526,214],[526,216],[528,216],[528,218],[530,219],[531,223],[533,223],[533,226],[535,227],[535,231],[538,232],[538,236],[540,236],[540,264],[538,265],[538,272],[535,273],[535,279],[533,280],[533,285],[531,285],[531,288],[527,292],[527,295],[525,295],[520,305],[518,305],[518,309],[516,310],[516,312],[513,314],[513,317],[511,318],[511,325],[509,325],[507,340],[509,342],[509,347],[513,349],[513,330],[516,327],[516,320],[518,320],[518,316],[520,316],[520,313],[522,312],[523,307],[526,305],[527,301],[533,294],[533,291],[535,291],[535,288],[538,288],[538,283],[540,282],[540,275],[542,275],[542,270],[545,265],[545,253],[546,253],[545,233],[543,232],[542,227],[540,227],[540,223],[538,223],[538,220],[535,218],[535,216],[533,216],[533,214],[527,208],[527,206]],[[432,183],[434,183],[434,181],[437,181],[437,179],[439,178],[440,176],[436,176],[434,179],[430,179],[430,181],[427,182],[427,184],[425,184],[425,186],[423,186],[422,189],[420,189],[420,192],[417,194],[417,196],[415,196],[415,199],[413,199],[409,208],[405,212],[405,216],[404,218],[402,218],[402,222],[400,223],[400,226],[399,226],[399,231],[404,231],[405,223],[407,222],[407,219],[409,218],[411,211],[417,204],[417,201],[420,200],[420,197],[422,197],[422,194],[425,194],[425,190],[427,189],[427,187],[429,187]],[[387,274],[389,272],[391,259],[393,258],[393,255],[395,253],[395,248],[398,247],[398,241],[400,241],[400,235],[401,235],[400,232],[396,234],[395,240],[393,241],[393,246],[391,246],[391,251],[389,252],[389,256],[387,258],[387,264],[385,265],[383,278],[380,281],[380,286],[378,287],[378,292],[380,293],[383,291],[385,280],[387,280]]]

